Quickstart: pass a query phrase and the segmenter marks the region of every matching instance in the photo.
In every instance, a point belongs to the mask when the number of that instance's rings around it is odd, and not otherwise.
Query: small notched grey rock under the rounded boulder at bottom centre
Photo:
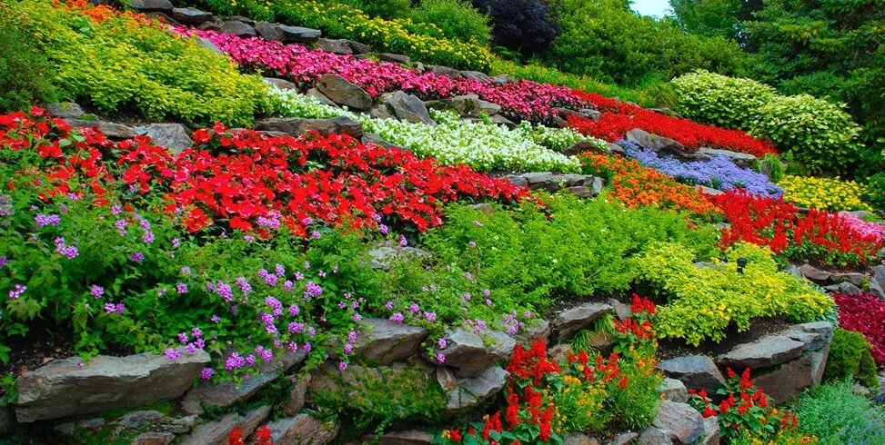
[[[437,368],[437,381],[446,393],[447,414],[455,414],[476,407],[488,397],[497,394],[507,382],[508,371],[492,366],[477,377],[456,378],[446,368]]]

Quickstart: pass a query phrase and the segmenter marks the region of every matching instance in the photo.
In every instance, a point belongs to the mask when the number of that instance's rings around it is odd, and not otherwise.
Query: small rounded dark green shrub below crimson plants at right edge
[[[879,388],[876,363],[870,353],[870,341],[858,332],[836,328],[830,343],[830,356],[823,372],[824,381],[852,379],[873,389]]]

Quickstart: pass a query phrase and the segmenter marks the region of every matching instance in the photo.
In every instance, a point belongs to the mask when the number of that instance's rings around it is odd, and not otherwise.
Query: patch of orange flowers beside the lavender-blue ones
[[[634,159],[593,153],[581,154],[579,159],[584,163],[584,173],[604,178],[611,184],[610,196],[629,208],[650,205],[697,215],[719,213],[698,190],[677,183],[653,168],[643,167]]]

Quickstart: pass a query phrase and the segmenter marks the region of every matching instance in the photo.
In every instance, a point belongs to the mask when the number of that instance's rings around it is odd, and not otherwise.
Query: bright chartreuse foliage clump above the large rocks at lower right
[[[673,243],[654,245],[640,256],[639,277],[668,298],[659,306],[657,329],[662,337],[697,345],[722,340],[732,323],[747,331],[760,317],[813,321],[833,309],[830,297],[779,272],[766,248],[739,243],[725,257],[728,262],[698,267],[689,249]],[[739,257],[748,260],[742,273]]]

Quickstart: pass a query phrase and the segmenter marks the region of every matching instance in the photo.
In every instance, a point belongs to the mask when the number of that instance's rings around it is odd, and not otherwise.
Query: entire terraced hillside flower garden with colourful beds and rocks
[[[877,189],[720,79],[700,124],[351,5],[117,6],[0,4],[58,90],[0,114],[0,437],[880,443]]]

